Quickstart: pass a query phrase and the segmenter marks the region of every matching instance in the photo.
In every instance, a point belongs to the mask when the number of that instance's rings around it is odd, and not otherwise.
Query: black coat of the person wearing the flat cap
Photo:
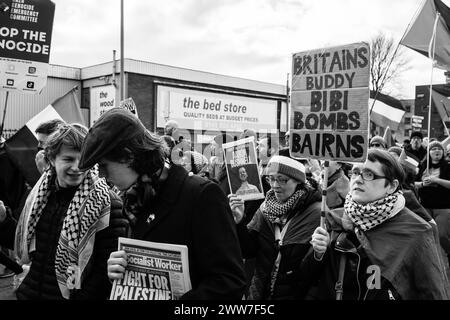
[[[147,221],[150,214],[155,219]],[[243,259],[228,199],[210,180],[172,165],[132,238],[188,247],[192,290],[182,299],[241,299]]]

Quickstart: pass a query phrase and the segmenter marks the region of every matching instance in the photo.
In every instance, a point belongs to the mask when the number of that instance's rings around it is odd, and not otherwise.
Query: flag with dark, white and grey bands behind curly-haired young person
[[[41,123],[52,119],[61,119],[67,123],[77,122],[85,125],[80,104],[75,94],[77,88],[77,86],[72,88],[62,97],[56,99],[5,141],[5,150],[8,157],[16,164],[31,186],[36,183],[40,176],[34,161],[38,145],[35,133],[36,128]]]

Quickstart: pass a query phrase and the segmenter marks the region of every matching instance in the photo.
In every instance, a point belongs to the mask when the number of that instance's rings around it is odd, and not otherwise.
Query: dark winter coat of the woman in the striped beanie
[[[260,209],[247,226],[237,226],[244,257],[256,259],[249,299],[294,299],[306,293],[309,284],[299,280],[302,277],[299,266],[311,249],[311,235],[320,224],[320,201],[320,190],[308,187],[306,196],[287,214],[290,222],[281,246],[275,242],[274,224]],[[281,260],[271,295],[271,274],[279,251]]]

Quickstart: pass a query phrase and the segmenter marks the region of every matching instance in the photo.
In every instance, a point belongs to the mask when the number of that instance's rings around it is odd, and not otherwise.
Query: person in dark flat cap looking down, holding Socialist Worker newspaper
[[[89,130],[80,168],[95,163],[124,192],[130,238],[188,247],[192,290],[181,299],[242,297],[242,254],[227,198],[217,184],[170,163],[161,138],[122,108],[105,112]],[[113,252],[109,278],[122,279],[126,265],[126,253]]]

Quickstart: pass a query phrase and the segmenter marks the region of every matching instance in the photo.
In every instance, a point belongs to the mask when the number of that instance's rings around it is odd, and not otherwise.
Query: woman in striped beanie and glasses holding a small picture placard
[[[241,223],[244,202],[229,195],[245,258],[255,257],[248,299],[302,299],[311,283],[302,261],[320,223],[320,189],[306,180],[305,167],[294,159],[273,156],[266,167],[271,186],[248,225]]]

